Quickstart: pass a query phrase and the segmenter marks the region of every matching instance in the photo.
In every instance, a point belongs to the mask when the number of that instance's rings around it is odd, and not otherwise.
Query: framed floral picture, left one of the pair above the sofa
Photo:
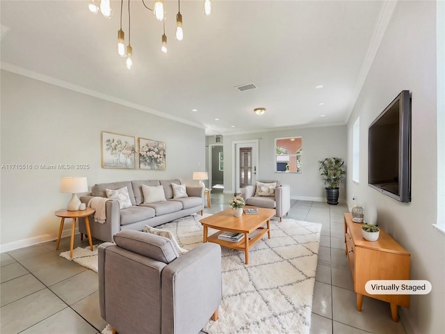
[[[113,132],[102,132],[102,168],[134,169],[136,138]]]

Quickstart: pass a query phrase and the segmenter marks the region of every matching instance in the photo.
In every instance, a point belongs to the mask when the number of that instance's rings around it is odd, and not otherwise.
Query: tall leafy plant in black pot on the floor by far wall
[[[327,204],[339,204],[339,185],[344,179],[346,171],[343,169],[344,161],[341,158],[326,158],[319,160],[318,164],[321,171],[320,175],[326,186]]]

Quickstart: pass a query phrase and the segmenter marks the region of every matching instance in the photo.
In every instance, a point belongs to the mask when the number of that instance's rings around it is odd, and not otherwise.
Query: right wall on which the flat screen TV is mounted
[[[353,124],[360,118],[359,184],[348,173],[348,193],[378,209],[378,224],[411,253],[411,278],[429,280],[432,292],[411,296],[408,314],[421,333],[445,328],[445,236],[432,227],[437,214],[437,88],[435,1],[399,1],[353,114],[348,121],[348,164]],[[401,92],[412,92],[412,202],[371,189],[368,127]],[[439,143],[443,145],[444,143]],[[348,205],[353,206],[351,196]]]

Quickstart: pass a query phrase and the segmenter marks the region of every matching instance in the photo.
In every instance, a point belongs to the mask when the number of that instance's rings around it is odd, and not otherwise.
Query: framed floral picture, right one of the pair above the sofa
[[[139,168],[165,170],[165,143],[150,139],[138,138]]]

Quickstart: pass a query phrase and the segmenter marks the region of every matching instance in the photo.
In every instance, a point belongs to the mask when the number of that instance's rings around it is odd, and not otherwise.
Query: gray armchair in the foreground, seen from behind
[[[179,257],[170,239],[140,231],[99,246],[102,318],[120,334],[199,333],[218,319],[221,249],[206,243]]]

